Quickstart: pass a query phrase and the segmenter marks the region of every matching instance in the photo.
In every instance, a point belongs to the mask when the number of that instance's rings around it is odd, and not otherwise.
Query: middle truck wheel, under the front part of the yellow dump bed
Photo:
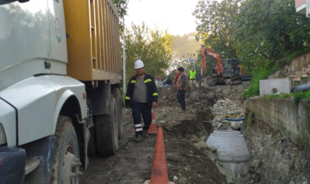
[[[95,129],[99,156],[115,155],[118,150],[118,116],[114,95],[111,95],[111,113],[95,116]]]

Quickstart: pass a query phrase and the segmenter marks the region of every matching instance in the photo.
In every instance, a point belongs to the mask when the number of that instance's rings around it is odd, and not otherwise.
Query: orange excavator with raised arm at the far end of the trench
[[[201,46],[201,69],[202,76],[205,76],[206,56],[214,58],[215,67],[212,69],[212,76],[206,77],[209,85],[216,84],[240,84],[242,83],[242,67],[238,64],[237,59],[222,59],[220,54],[210,48]]]

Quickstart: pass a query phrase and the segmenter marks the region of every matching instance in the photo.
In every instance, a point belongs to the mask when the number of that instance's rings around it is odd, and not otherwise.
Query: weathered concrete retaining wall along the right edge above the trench
[[[310,148],[310,100],[296,104],[292,99],[252,99],[246,107],[273,129]]]

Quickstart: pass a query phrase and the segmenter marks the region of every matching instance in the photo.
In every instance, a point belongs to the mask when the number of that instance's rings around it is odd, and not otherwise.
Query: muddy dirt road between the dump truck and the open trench
[[[221,87],[220,87],[221,88]],[[186,113],[179,113],[174,88],[159,88],[159,107],[155,109],[157,127],[164,132],[168,177],[177,183],[206,184],[226,183],[218,169],[216,155],[210,148],[197,148],[193,143],[205,141],[212,132],[209,106],[218,98],[216,90],[204,88],[187,91]],[[92,157],[88,170],[81,178],[90,183],[144,183],[150,179],[156,135],[135,143],[131,110],[123,111],[124,136],[117,155],[109,158]]]

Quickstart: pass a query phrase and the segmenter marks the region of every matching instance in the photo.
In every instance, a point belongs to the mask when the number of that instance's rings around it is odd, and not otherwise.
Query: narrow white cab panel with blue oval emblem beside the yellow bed
[[[62,0],[48,0],[52,47],[51,73],[66,75],[67,44]]]

